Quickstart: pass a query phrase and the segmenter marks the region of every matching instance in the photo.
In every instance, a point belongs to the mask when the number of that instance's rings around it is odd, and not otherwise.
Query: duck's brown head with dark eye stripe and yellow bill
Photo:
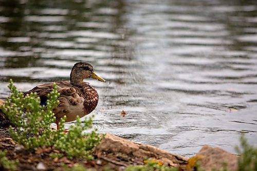
[[[70,72],[70,83],[72,85],[79,85],[86,78],[96,79],[98,81],[105,82],[104,79],[99,77],[91,64],[87,62],[78,62],[76,63]]]

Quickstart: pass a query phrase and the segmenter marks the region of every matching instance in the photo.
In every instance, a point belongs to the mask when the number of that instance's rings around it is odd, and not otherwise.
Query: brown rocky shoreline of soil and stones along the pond
[[[7,158],[9,160],[19,160],[17,170],[65,170],[62,165],[72,167],[76,164],[96,170],[104,170],[106,166],[112,170],[124,170],[128,165],[145,164],[145,159],[160,161],[164,165],[177,167],[179,170],[193,170],[193,164],[196,161],[199,161],[206,171],[211,171],[214,167],[217,169],[222,168],[224,162],[227,163],[229,170],[237,169],[238,156],[230,154],[221,148],[204,145],[196,156],[187,158],[169,153],[152,145],[134,143],[109,133],[95,147],[93,151],[94,159],[91,161],[80,158],[69,160],[65,156],[52,158],[50,155],[56,150],[54,148],[38,148],[34,151],[28,151],[22,145],[16,144],[10,138],[8,131],[10,123],[6,118],[3,118],[5,115],[2,112],[0,113],[0,150],[7,149]],[[43,169],[40,168],[41,166]],[[188,169],[189,167],[191,169]]]

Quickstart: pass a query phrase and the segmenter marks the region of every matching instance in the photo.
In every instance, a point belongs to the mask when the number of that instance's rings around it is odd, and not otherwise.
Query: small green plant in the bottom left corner
[[[7,150],[0,150],[0,169],[16,170],[16,165],[19,163],[17,160],[9,160],[6,157]],[[2,169],[1,169],[2,170]]]

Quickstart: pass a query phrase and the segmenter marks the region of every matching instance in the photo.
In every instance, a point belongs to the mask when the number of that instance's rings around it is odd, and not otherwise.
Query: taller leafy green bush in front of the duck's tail
[[[10,127],[10,135],[13,140],[23,144],[27,149],[39,146],[51,146],[56,136],[50,128],[50,124],[55,121],[52,109],[58,105],[56,85],[53,91],[48,94],[47,107],[40,105],[40,98],[36,93],[27,94],[24,97],[10,80],[10,98],[2,106],[10,122],[17,129],[14,131]]]

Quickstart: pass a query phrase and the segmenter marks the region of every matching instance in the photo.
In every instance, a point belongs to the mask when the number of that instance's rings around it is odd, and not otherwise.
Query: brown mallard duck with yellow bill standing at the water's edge
[[[53,109],[57,129],[59,128],[59,121],[62,117],[66,116],[65,122],[74,121],[77,116],[82,118],[96,108],[98,93],[93,86],[83,81],[86,78],[93,78],[105,82],[104,79],[95,73],[93,66],[87,62],[78,62],[72,67],[70,82],[56,82],[58,92],[60,93],[58,99],[60,103]],[[36,92],[41,99],[41,105],[45,105],[47,94],[52,91],[52,89],[53,83],[42,84],[25,92],[25,95]]]

